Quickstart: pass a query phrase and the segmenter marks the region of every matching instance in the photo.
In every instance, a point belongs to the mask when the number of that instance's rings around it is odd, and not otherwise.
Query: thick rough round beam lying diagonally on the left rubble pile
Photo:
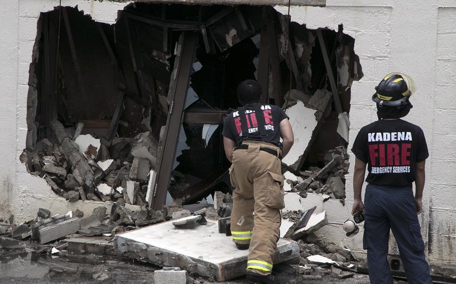
[[[65,130],[65,127],[58,120],[51,121],[51,128],[59,142],[59,145],[63,149],[63,154],[70,162],[71,167],[74,171],[79,172],[79,176],[82,177],[82,184],[89,190],[94,190],[94,173],[90,165],[88,164],[85,156],[79,151],[78,145],[73,141],[73,137]],[[78,180],[79,183],[80,180]]]

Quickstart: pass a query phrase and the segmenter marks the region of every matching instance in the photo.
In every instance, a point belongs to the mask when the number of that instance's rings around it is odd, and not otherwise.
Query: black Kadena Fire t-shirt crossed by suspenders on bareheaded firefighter
[[[246,104],[247,109],[255,109],[255,104]],[[280,141],[280,122],[289,118],[285,111],[272,104],[262,104],[261,109],[263,110],[263,116],[265,117],[265,130],[267,136],[265,137],[265,142],[278,145]],[[242,140],[242,127],[241,127],[241,117],[239,116],[239,110],[231,112],[228,116],[225,117],[223,122],[223,131],[221,134],[227,138],[236,141],[239,145]],[[258,131],[258,122],[257,114],[254,110],[246,110],[245,112],[247,118],[247,127],[249,130],[248,140],[261,141],[260,131]]]

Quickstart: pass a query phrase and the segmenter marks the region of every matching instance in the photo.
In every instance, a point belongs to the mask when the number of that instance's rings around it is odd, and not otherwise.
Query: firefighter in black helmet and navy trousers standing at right
[[[415,84],[410,76],[391,73],[376,87],[378,121],[361,128],[353,143],[352,213],[364,210],[363,247],[371,283],[392,284],[387,261],[390,229],[399,247],[408,282],[432,283],[417,214],[422,211],[424,162],[429,156],[423,130],[400,119],[412,108]],[[364,204],[361,187],[368,168]],[[415,182],[413,197],[412,182]]]

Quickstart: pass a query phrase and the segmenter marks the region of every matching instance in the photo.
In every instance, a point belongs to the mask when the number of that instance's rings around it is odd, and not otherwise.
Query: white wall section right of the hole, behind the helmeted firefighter
[[[452,193],[456,189],[456,181],[452,178],[456,173],[456,128],[454,123],[449,123],[456,121],[454,6],[449,0],[400,3],[328,0],[326,7],[291,9],[291,20],[305,23],[309,29],[328,27],[337,30],[338,24],[342,23],[344,33],[355,38],[354,49],[360,57],[364,77],[352,85],[349,149],[358,130],[377,119],[370,96],[378,80],[393,71],[409,73],[416,80],[418,91],[411,99],[414,107],[406,120],[422,127],[431,154],[427,160],[424,213],[420,215],[420,222],[428,257],[434,265],[456,264],[451,257],[456,253],[456,195]],[[288,7],[276,6],[276,9],[286,13]],[[423,29],[423,26],[427,28]],[[353,172],[353,165],[351,154],[350,172]],[[326,210],[330,222],[317,231],[319,237],[363,252],[362,234],[347,238],[340,228],[340,224],[351,216],[353,200],[352,175],[346,177],[345,206],[332,199],[323,202],[320,195],[308,194],[307,198],[298,199],[300,203],[291,196],[286,199],[295,201],[288,204],[292,207],[306,209],[318,204],[317,210]],[[395,243],[390,242],[390,253],[397,252]]]

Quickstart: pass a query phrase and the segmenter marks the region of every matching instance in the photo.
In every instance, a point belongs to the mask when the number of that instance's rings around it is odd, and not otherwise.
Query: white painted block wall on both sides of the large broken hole
[[[39,207],[64,212],[80,208],[86,213],[97,202],[69,203],[56,197],[46,182],[27,173],[19,162],[27,134],[26,110],[29,65],[40,12],[49,11],[59,0],[0,0],[0,218],[14,214],[17,221],[36,215]],[[126,3],[108,0],[62,0],[78,5],[95,20],[113,23],[117,10]],[[308,28],[328,27],[353,36],[364,77],[353,83],[350,146],[357,130],[376,119],[370,100],[374,86],[385,74],[401,71],[412,75],[418,91],[407,119],[420,125],[431,156],[428,159],[421,216],[425,239],[431,236],[431,263],[456,263],[456,2],[454,0],[327,0],[326,7],[292,7],[293,21]],[[286,7],[276,7],[287,13]],[[353,156],[351,171],[353,170]],[[326,210],[330,224],[318,231],[320,237],[345,244],[361,252],[362,234],[348,239],[340,227],[350,217],[352,179],[347,177],[346,205],[338,200],[323,203],[309,194],[297,199],[287,196],[289,206]],[[292,194],[292,193],[289,193]],[[428,215],[431,218],[428,221]],[[428,234],[429,228],[429,234]],[[391,248],[395,251],[394,247]]]

